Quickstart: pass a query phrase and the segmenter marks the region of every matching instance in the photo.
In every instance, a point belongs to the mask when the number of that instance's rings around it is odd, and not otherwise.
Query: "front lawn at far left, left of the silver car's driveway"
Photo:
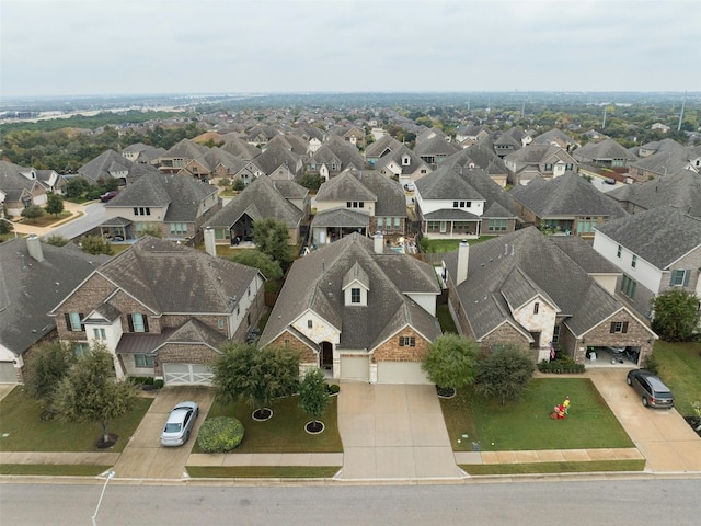
[[[119,439],[110,449],[97,449],[95,441],[102,433],[100,424],[43,421],[39,405],[21,387],[16,387],[0,401],[0,451],[119,453],[152,401],[151,398],[140,398],[129,414],[112,421],[110,433],[118,435]]]

